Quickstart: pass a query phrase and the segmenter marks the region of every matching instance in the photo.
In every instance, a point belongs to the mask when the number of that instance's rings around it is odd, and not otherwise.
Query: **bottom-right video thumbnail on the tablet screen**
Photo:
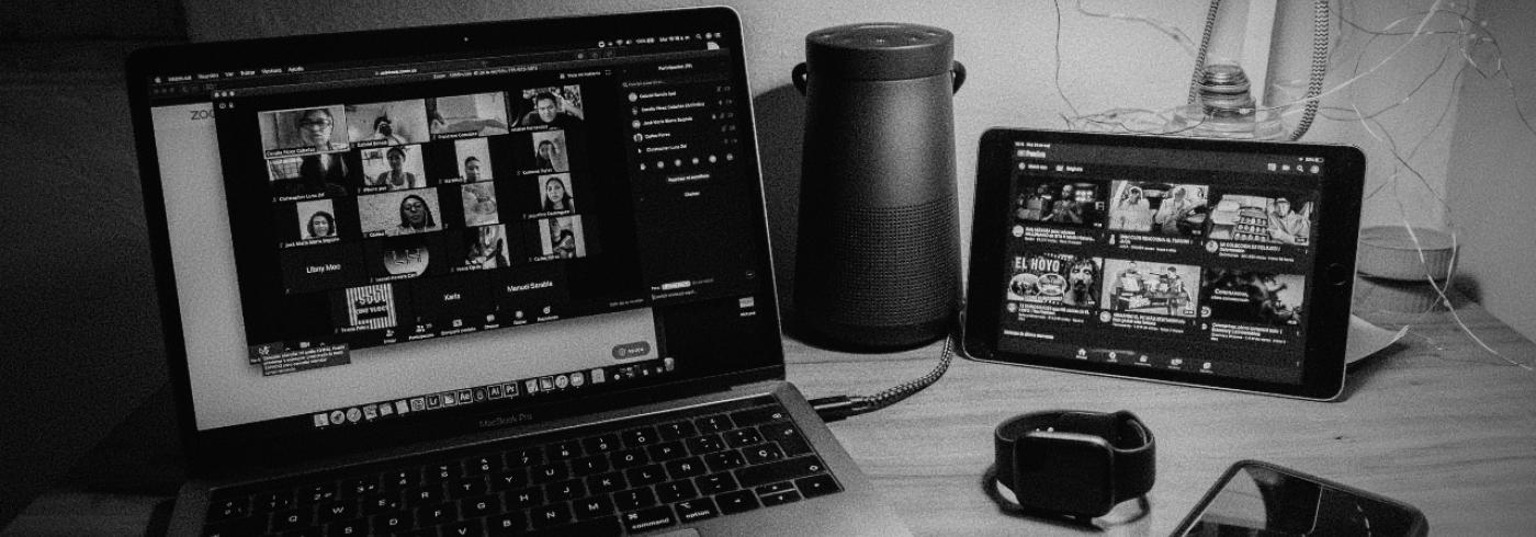
[[[1264,325],[1301,324],[1306,276],[1235,268],[1206,270],[1201,316]]]

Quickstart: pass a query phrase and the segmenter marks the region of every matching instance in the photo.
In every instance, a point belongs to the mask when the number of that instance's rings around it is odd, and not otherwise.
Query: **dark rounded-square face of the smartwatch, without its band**
[[[1014,496],[1037,509],[1103,516],[1115,506],[1114,451],[1077,433],[1029,433],[1014,448]]]

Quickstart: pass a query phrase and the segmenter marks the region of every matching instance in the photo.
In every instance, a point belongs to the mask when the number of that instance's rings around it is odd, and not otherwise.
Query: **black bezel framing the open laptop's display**
[[[155,265],[155,284],[158,288],[163,336],[166,341],[166,357],[170,373],[170,385],[177,399],[177,416],[186,448],[189,465],[194,473],[218,469],[221,473],[235,468],[283,465],[301,459],[313,459],[333,454],[358,453],[364,450],[381,450],[456,434],[482,431],[484,420],[518,423],[516,428],[530,428],[536,423],[562,417],[598,413],[604,410],[656,402],[703,391],[719,391],[733,385],[783,379],[783,348],[779,327],[777,292],[773,288],[773,261],[768,249],[766,210],[753,224],[754,236],[760,238],[760,259],[757,259],[762,275],[768,275],[768,292],[759,296],[759,328],[760,341],[742,342],[743,345],[762,345],[763,361],[759,364],[739,364],[737,368],[722,368],[700,376],[679,376],[657,384],[637,385],[616,391],[604,391],[596,396],[576,399],[551,399],[538,404],[507,404],[485,405],[484,408],[465,408],[462,411],[441,413],[432,419],[409,419],[396,423],[376,423],[356,430],[304,430],[273,433],[263,428],[263,422],[226,427],[217,430],[197,430],[192,387],[187,367],[186,339],[181,327],[181,310],[177,293],[177,281],[172,268],[170,236],[167,230],[164,186],[160,178],[158,156],[155,150],[154,123],[151,109],[154,103],[147,92],[149,81],[155,75],[167,72],[201,72],[201,71],[232,71],[252,69],[287,63],[324,63],[324,61],[355,61],[370,58],[412,58],[441,57],[484,52],[487,49],[511,49],[558,40],[571,43],[579,40],[598,41],[601,38],[622,38],[660,35],[670,31],[693,34],[702,29],[723,31],[720,43],[731,52],[733,72],[736,81],[734,95],[739,103],[751,110],[751,92],[746,87],[745,52],[742,46],[740,18],[730,8],[700,9],[670,9],[644,14],[593,15],[593,17],[562,17],[521,21],[495,21],[473,25],[429,26],[409,29],[384,29],[326,35],[300,35],[244,41],[197,43],[166,48],[135,51],[127,60],[127,91],[131,101],[132,123],[135,129],[135,146],[141,187],[144,195],[144,213],[151,242],[151,256]],[[358,48],[356,43],[373,43]],[[493,44],[487,44],[493,43]],[[315,54],[313,51],[323,51]],[[210,101],[210,100],[189,100]],[[754,195],[759,207],[765,207],[762,199],[762,172],[756,152],[756,129],[751,117],[740,121],[743,143],[754,150],[743,152],[740,164],[743,170],[756,173],[759,181]],[[766,304],[763,304],[766,301]],[[304,450],[290,450],[292,445],[303,445]]]

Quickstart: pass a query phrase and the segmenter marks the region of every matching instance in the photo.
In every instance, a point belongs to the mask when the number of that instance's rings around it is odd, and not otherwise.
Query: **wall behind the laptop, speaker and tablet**
[[[1275,0],[1229,0],[1215,57],[1252,55],[1247,12]],[[137,163],[121,83],[126,51],[163,41],[224,40],[515,17],[571,15],[703,5],[688,0],[485,2],[375,0],[11,0],[0,3],[0,525],[68,468],[149,393],[166,382],[158,341]],[[955,95],[962,236],[969,244],[975,143],[989,126],[1063,127],[1069,115],[1054,78],[1081,112],[1163,109],[1186,98],[1193,60],[1152,26],[1087,17],[1061,0],[725,0],[746,26],[759,146],[783,296],[791,296],[803,104],[790,69],[803,38],[826,26],[889,20],[955,32],[969,71]],[[1092,0],[1084,9],[1137,14],[1200,38],[1201,2]],[[1270,81],[1303,78],[1310,2],[1279,0],[1279,44]],[[1412,31],[1433,0],[1341,0],[1336,12],[1364,28]],[[1392,107],[1367,129],[1321,118],[1307,141],[1349,143],[1370,163],[1367,224],[1445,227],[1464,244],[1462,285],[1524,334],[1536,338],[1536,135],[1514,123],[1511,103],[1536,115],[1536,5],[1479,0],[1471,25],[1502,41],[1502,80],[1455,74],[1459,37],[1366,35],[1352,28],[1335,51],[1329,84],[1398,55],[1349,92],[1324,100],[1344,118]],[[1435,28],[1456,28],[1450,17]],[[1338,25],[1335,25],[1338,31]],[[1249,51],[1244,51],[1249,48]],[[1364,54],[1361,55],[1361,52]],[[1057,63],[1060,55],[1060,69]],[[1444,61],[1442,61],[1444,60]],[[1419,81],[1424,81],[1419,86]],[[1412,92],[1413,87],[1419,87]],[[1458,92],[1459,91],[1459,92]],[[1375,132],[1375,135],[1373,135]],[[1390,143],[1376,137],[1390,137]],[[1422,175],[1395,166],[1395,143]],[[1381,187],[1381,189],[1378,189]],[[1447,204],[1450,213],[1445,212]],[[1528,357],[1524,357],[1528,359]]]

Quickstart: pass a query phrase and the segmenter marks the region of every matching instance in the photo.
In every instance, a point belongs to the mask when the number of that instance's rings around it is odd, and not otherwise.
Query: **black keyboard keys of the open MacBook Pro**
[[[624,535],[833,494],[771,397],[214,491],[209,537]]]

